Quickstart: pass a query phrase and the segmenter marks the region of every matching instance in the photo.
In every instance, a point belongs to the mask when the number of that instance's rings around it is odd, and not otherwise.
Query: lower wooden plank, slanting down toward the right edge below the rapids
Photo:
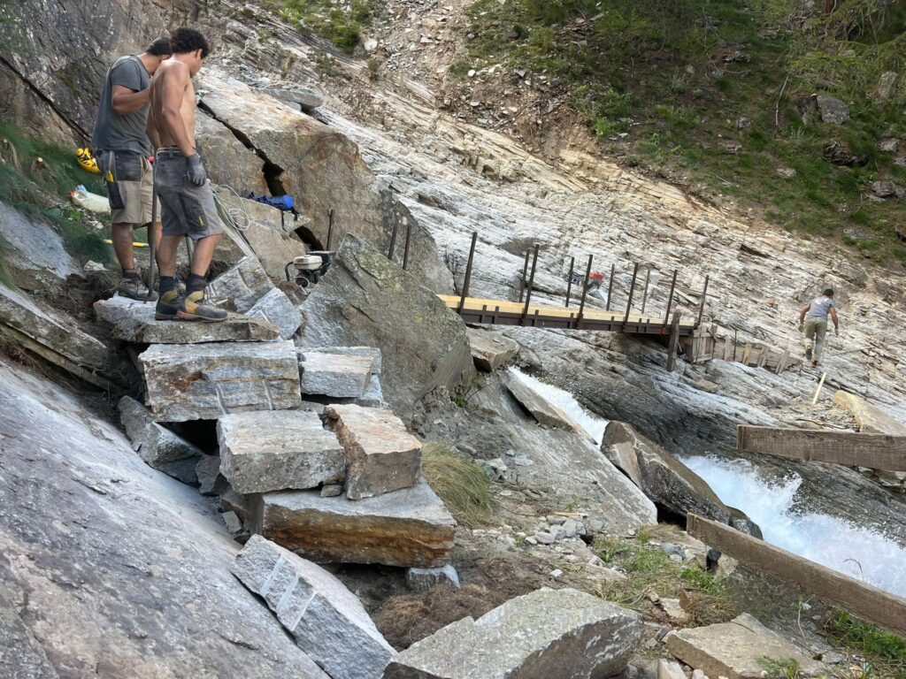
[[[686,530],[733,559],[794,582],[814,596],[897,635],[906,635],[906,599],[781,550],[723,523],[689,514]]]

